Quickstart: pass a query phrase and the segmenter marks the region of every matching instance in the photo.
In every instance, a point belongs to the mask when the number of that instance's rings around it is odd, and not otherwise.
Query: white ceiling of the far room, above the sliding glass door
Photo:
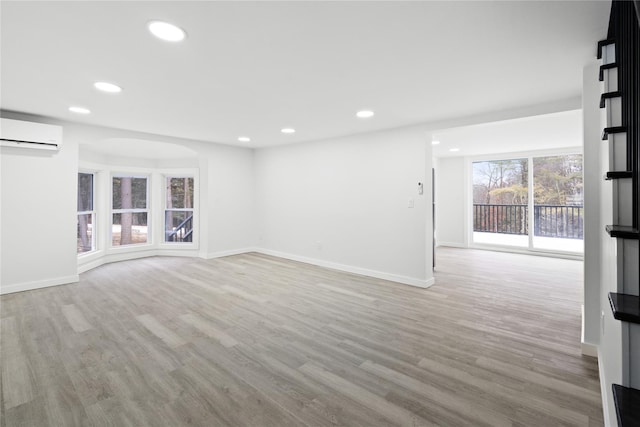
[[[582,151],[582,111],[525,117],[438,131],[434,157],[478,156],[556,148]],[[451,152],[452,148],[459,151]]]

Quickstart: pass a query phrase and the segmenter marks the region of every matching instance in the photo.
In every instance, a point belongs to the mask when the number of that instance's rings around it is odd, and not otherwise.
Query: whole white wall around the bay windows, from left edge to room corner
[[[59,152],[48,155],[37,150],[2,148],[2,293],[77,281],[77,173],[79,167],[87,165],[93,170],[106,170],[107,175],[117,169],[150,172],[194,168],[199,171],[201,233],[199,247],[182,252],[158,244],[107,253],[107,238],[103,236],[102,250],[83,255],[80,271],[131,257],[184,254],[208,258],[255,247],[253,150],[9,112],[3,112],[3,117],[61,125],[64,145]],[[193,158],[153,160],[90,150],[114,138],[187,147]],[[101,178],[103,192],[107,192],[109,177]],[[108,207],[105,209],[108,211]],[[108,217],[108,212],[102,212],[102,217]],[[25,219],[28,227],[16,226]]]

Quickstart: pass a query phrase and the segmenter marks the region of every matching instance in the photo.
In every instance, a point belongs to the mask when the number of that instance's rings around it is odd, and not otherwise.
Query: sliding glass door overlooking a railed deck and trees
[[[475,244],[583,251],[582,155],[477,161],[472,182]]]

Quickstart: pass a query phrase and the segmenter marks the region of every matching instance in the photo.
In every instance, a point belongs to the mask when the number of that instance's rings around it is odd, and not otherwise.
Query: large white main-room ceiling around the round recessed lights
[[[7,2],[4,110],[263,147],[580,95],[608,1]],[[152,19],[187,33],[149,34]],[[98,80],[123,87],[104,94]],[[88,116],[67,111],[91,109]],[[371,119],[356,111],[372,109]],[[294,127],[293,135],[280,129]],[[237,142],[249,136],[250,143]]]

